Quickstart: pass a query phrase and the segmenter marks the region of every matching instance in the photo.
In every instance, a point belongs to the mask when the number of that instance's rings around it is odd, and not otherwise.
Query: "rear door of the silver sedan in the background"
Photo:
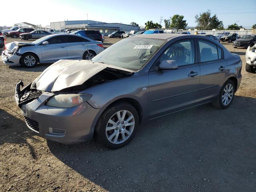
[[[81,59],[86,51],[86,43],[89,40],[77,35],[68,35],[67,54],[68,59]]]

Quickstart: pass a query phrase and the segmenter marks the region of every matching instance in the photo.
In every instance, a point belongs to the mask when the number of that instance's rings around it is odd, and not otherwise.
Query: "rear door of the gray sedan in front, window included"
[[[223,50],[217,44],[198,40],[198,59],[201,70],[200,99],[205,100],[216,96],[224,83],[228,70],[223,59]]]

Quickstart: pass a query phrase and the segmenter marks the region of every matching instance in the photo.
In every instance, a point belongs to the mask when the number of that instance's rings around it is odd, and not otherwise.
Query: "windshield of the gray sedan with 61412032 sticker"
[[[165,42],[150,38],[126,38],[96,55],[92,61],[137,71]]]

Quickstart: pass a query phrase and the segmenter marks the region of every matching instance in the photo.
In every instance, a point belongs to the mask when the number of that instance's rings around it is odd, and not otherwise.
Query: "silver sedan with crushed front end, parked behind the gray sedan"
[[[32,43],[6,44],[2,60],[10,66],[34,67],[37,63],[53,63],[60,59],[90,60],[104,50],[100,41],[72,35],[52,34]]]

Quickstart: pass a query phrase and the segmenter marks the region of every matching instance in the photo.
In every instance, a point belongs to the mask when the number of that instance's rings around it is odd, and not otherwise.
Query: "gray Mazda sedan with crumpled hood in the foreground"
[[[204,36],[137,35],[92,61],[56,62],[22,90],[19,82],[15,98],[28,128],[49,140],[119,148],[143,122],[210,102],[228,108],[241,68],[238,55]]]

